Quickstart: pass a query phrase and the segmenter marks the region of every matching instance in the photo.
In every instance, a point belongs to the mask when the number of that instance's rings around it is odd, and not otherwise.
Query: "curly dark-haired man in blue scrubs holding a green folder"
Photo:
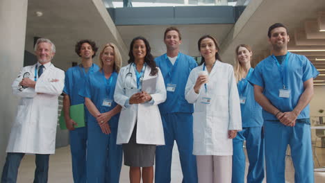
[[[65,110],[65,123],[69,130],[70,148],[72,156],[72,174],[74,182],[87,182],[86,177],[86,148],[87,148],[87,124],[85,127],[78,128],[76,122],[70,118],[70,105],[85,103],[85,98],[78,94],[85,84],[85,78],[89,73],[99,70],[97,64],[92,62],[96,55],[97,46],[91,40],[81,40],[76,43],[75,51],[81,57],[81,64],[71,67],[65,73],[65,94],[63,99],[63,110]],[[85,107],[85,122],[88,119],[88,110]]]

